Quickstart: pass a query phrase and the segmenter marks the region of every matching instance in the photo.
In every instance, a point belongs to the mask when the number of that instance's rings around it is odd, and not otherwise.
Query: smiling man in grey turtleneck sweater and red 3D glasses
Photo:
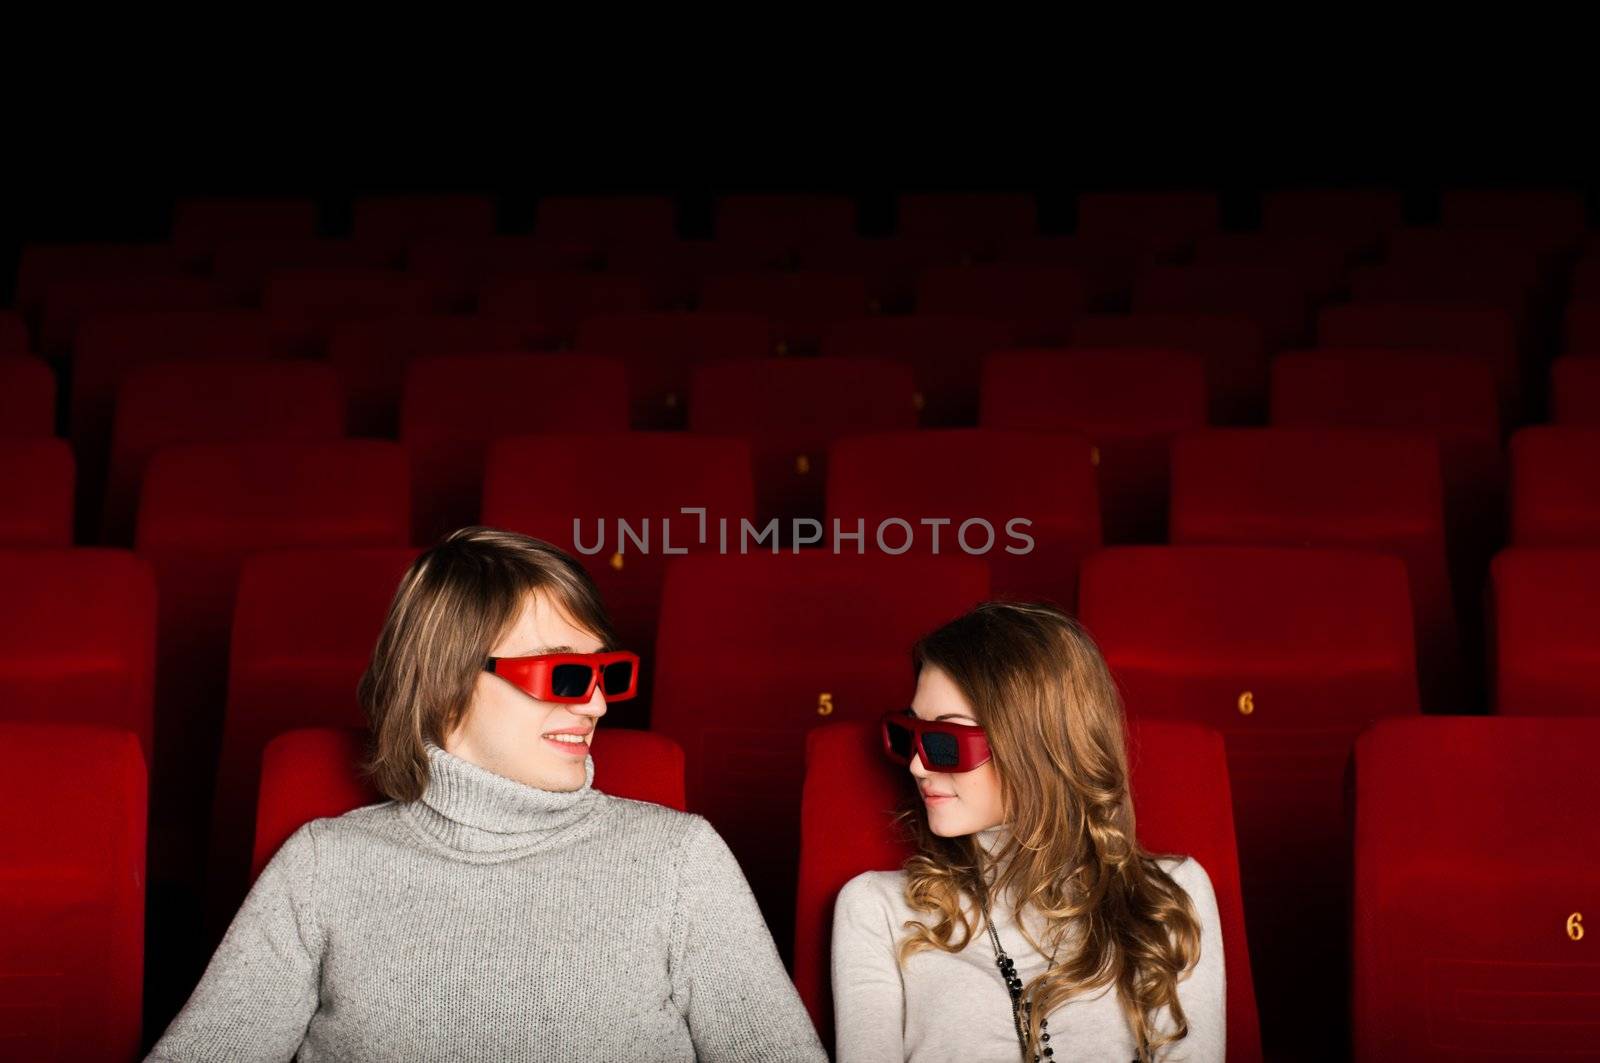
[[[614,650],[546,543],[421,554],[360,682],[390,800],[283,844],[149,1058],[826,1063],[710,823],[594,789]]]

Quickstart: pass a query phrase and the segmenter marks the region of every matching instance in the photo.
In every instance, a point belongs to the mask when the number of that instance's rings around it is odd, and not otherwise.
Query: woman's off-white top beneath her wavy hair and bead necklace
[[[1006,826],[973,836],[986,853],[998,853]],[[1189,893],[1200,916],[1200,959],[1178,983],[1178,999],[1189,1020],[1189,1036],[1162,1053],[1178,1063],[1221,1063],[1227,1042],[1227,978],[1222,929],[1211,877],[1194,856],[1163,860],[1162,866]],[[963,901],[974,911],[971,898]],[[1045,972],[1040,956],[1018,929],[1010,898],[994,898],[992,916],[1000,946],[1016,964],[1022,983]],[[1042,941],[1045,917],[1024,908],[1026,925]],[[845,884],[834,905],[834,1018],[838,1063],[1016,1063],[1019,1045],[1011,1021],[1011,997],[995,969],[994,943],[978,916],[978,933],[960,953],[926,949],[901,967],[894,951],[907,937],[910,919],[928,922],[931,913],[906,903],[904,871],[866,871]],[[1074,927],[1064,949],[1082,941]],[[1066,959],[1066,951],[1058,962]],[[1077,996],[1050,1015],[1050,1047],[1056,1060],[1126,1063],[1134,1058],[1133,1034],[1115,986]],[[1173,1028],[1160,1009],[1155,1023]]]

